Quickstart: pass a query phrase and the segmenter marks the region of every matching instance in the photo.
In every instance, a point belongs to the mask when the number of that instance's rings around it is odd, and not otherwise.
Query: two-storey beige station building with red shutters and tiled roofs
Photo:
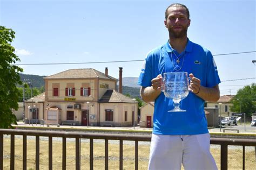
[[[122,94],[122,67],[119,80],[121,93],[116,91],[117,79],[108,74],[107,68],[105,74],[89,68],[69,69],[44,77],[45,94],[39,95],[44,98],[43,104],[39,105],[39,96],[25,101],[27,122],[39,123],[43,119],[46,124],[62,125],[137,124],[138,102]]]

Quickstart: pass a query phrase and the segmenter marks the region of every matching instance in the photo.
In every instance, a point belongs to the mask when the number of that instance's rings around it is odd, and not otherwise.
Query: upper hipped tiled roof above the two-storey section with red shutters
[[[53,74],[44,79],[84,79],[84,78],[101,78],[109,80],[117,80],[114,77],[106,76],[104,73],[99,72],[93,68],[84,68],[84,69],[69,69],[64,72]]]

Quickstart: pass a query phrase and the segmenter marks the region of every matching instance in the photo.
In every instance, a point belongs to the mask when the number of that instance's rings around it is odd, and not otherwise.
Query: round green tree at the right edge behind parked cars
[[[245,86],[239,89],[237,95],[235,95],[231,103],[231,111],[244,112],[247,116],[252,116],[256,111],[256,84],[252,83],[251,86]]]

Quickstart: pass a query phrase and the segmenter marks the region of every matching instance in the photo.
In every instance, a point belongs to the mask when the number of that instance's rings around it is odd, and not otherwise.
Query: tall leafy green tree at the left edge
[[[19,72],[23,69],[12,65],[20,61],[15,54],[15,48],[11,42],[15,38],[15,32],[0,26],[0,128],[13,128],[11,124],[16,123],[16,116],[12,109],[18,110],[18,100],[21,96],[16,84],[22,84]]]

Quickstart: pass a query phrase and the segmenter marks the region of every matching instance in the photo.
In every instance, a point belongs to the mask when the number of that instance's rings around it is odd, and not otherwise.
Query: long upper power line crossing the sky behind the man
[[[214,54],[213,56],[245,54],[245,53],[255,53],[255,52],[256,51],[239,52],[239,53],[226,53],[226,54]],[[144,61],[144,60],[98,61],[98,62],[63,62],[63,63],[18,63],[18,64],[13,64],[13,65],[78,65],[78,64],[92,64],[92,63],[137,62],[137,61]]]

